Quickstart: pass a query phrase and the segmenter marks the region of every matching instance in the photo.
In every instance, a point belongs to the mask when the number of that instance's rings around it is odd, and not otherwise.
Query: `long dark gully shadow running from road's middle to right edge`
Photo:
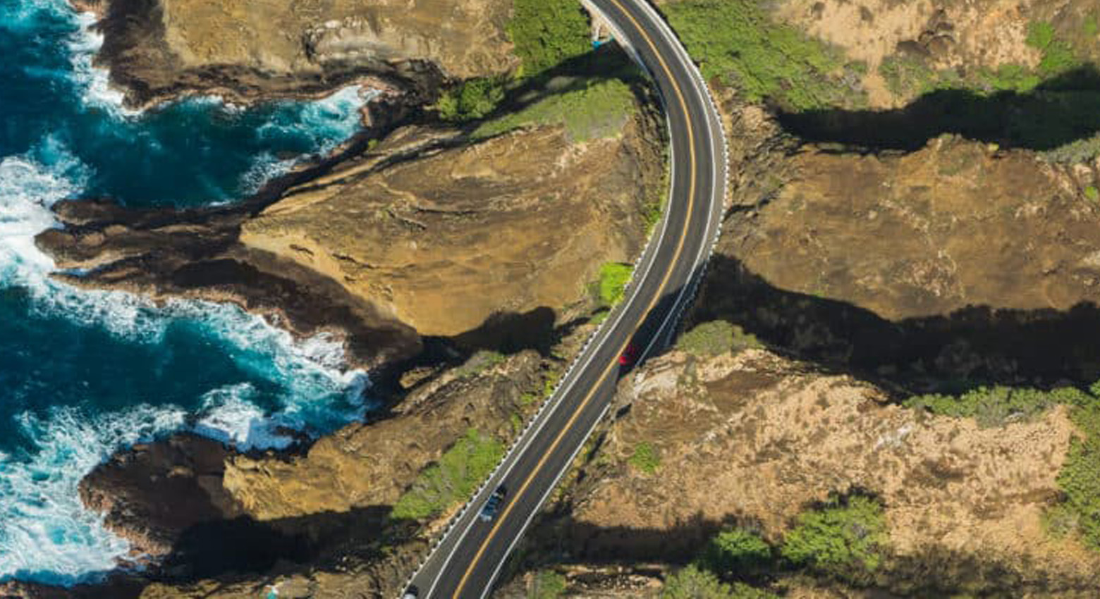
[[[1065,311],[972,306],[890,321],[844,301],[779,289],[716,254],[689,320],[725,320],[776,350],[909,392],[1087,386],[1100,378],[1094,303]]]

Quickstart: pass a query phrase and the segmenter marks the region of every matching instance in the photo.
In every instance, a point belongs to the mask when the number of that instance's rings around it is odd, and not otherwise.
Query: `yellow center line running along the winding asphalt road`
[[[673,255],[673,259],[671,263],[671,265],[674,266],[676,262],[680,260],[680,254],[683,252],[684,240],[685,240],[684,234],[688,231],[688,223],[691,222],[691,213],[695,203],[695,173],[696,173],[695,132],[692,130],[691,126],[691,119],[689,119],[689,112],[688,112],[688,102],[684,100],[683,90],[680,89],[680,85],[676,82],[675,77],[673,77],[672,70],[669,68],[668,63],[664,62],[664,57],[661,56],[661,53],[657,49],[657,44],[653,43],[653,40],[650,38],[649,34],[646,33],[646,30],[641,27],[641,25],[634,18],[634,15],[627,12],[625,8],[623,8],[623,4],[619,2],[619,0],[608,0],[608,1],[615,4],[615,8],[618,9],[619,12],[625,14],[626,18],[630,20],[630,22],[634,24],[634,27],[638,30],[638,33],[641,34],[641,36],[646,40],[646,43],[649,44],[649,47],[652,48],[653,54],[657,56],[657,59],[661,63],[661,68],[664,70],[666,75],[668,75],[669,81],[672,84],[672,88],[675,90],[676,101],[680,103],[680,109],[683,111],[684,114],[684,123],[686,124],[688,129],[688,153],[689,153],[689,164],[691,167],[690,168],[691,177],[689,178],[689,184],[688,184],[689,185],[688,218],[684,219],[684,230],[680,234],[680,242],[676,244],[676,252]],[[647,0],[639,0],[639,1],[645,2]],[[650,300],[649,307],[646,308],[646,311],[641,317],[642,322],[646,320],[647,317],[649,317],[649,313],[653,310],[653,307],[657,306],[657,302],[661,298],[661,295],[664,292],[664,288],[668,286],[669,278],[671,276],[672,276],[672,268],[670,267],[668,271],[664,273],[664,278],[661,280],[661,287],[657,290],[657,293],[653,296],[653,299]],[[630,340],[628,337],[627,341],[623,344],[623,346],[619,347],[618,352],[615,353],[615,355],[617,356],[622,354],[626,350],[626,346],[629,343]],[[561,440],[565,436],[565,433],[573,428],[573,424],[576,422],[576,419],[580,418],[581,413],[584,412],[584,409],[587,407],[592,398],[596,395],[596,391],[600,389],[600,387],[604,384],[604,380],[607,378],[607,375],[612,371],[612,368],[615,366],[616,363],[617,363],[616,359],[612,359],[612,362],[607,364],[607,367],[604,368],[603,374],[600,375],[598,379],[596,379],[596,384],[592,386],[591,390],[588,390],[588,395],[584,398],[584,401],[582,401],[581,406],[576,409],[576,411],[573,412],[573,415],[570,417],[569,421],[558,433],[558,436],[554,437],[553,443],[550,444],[550,448],[547,450],[547,452],[542,455],[542,458],[539,459],[539,463],[536,464],[535,468],[531,469],[531,472],[527,475],[527,478],[524,479],[524,484],[520,485],[519,490],[514,496],[514,499],[508,502],[507,507],[505,507],[504,513],[502,513],[501,517],[496,519],[496,523],[493,524],[493,529],[488,531],[488,536],[485,537],[485,541],[482,542],[481,547],[477,548],[477,553],[474,555],[474,558],[470,562],[470,565],[466,567],[466,572],[462,575],[462,580],[459,581],[459,586],[454,589],[454,595],[453,595],[454,599],[458,599],[459,596],[462,594],[462,589],[465,588],[466,583],[470,580],[470,576],[474,572],[474,568],[477,566],[477,563],[481,562],[482,555],[485,554],[485,550],[488,548],[490,544],[493,542],[493,537],[496,536],[497,531],[501,529],[501,524],[503,524],[508,519],[508,513],[512,512],[512,508],[519,502],[518,501],[519,498],[522,497],[524,492],[531,485],[531,481],[535,480],[535,475],[542,469],[542,466],[546,465],[547,459],[550,458],[554,450],[558,448],[558,445],[561,444]],[[444,573],[440,573],[440,576],[442,576],[443,574]]]

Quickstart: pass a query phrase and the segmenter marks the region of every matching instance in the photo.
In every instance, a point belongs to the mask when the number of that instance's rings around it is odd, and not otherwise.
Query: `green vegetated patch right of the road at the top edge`
[[[749,100],[770,99],[792,111],[866,103],[849,82],[858,79],[849,76],[858,76],[858,65],[846,73],[839,48],[772,21],[756,0],[683,0],[661,9],[703,75]]]

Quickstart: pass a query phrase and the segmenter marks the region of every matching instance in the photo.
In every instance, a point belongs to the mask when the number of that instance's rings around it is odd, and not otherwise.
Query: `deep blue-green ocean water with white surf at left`
[[[230,307],[156,307],[48,277],[34,235],[64,198],[231,202],[353,134],[364,95],[251,109],[193,99],[136,114],[92,68],[102,42],[65,0],[0,1],[0,581],[74,584],[128,544],[80,504],[112,452],[190,430],[278,447],[360,417],[369,379],[338,340],[295,341]]]

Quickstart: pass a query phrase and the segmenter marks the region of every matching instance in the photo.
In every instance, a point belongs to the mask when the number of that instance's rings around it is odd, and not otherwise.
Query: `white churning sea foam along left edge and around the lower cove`
[[[155,307],[128,293],[82,291],[51,279],[54,264],[35,247],[34,235],[56,225],[50,207],[79,192],[89,176],[54,140],[0,160],[0,288],[23,288],[34,310],[135,343],[157,343],[170,323],[191,321],[228,346],[238,367],[283,390],[268,398],[274,406],[267,411],[252,402],[256,390],[249,384],[211,390],[193,425],[172,406],[108,414],[53,410],[43,420],[21,414],[33,451],[0,458],[0,580],[72,584],[116,565],[129,546],[82,508],[77,485],[125,445],[190,426],[241,448],[282,447],[292,439],[279,426],[330,430],[362,415],[369,380],[345,370],[338,339],[321,334],[296,342],[233,306],[177,300]]]

